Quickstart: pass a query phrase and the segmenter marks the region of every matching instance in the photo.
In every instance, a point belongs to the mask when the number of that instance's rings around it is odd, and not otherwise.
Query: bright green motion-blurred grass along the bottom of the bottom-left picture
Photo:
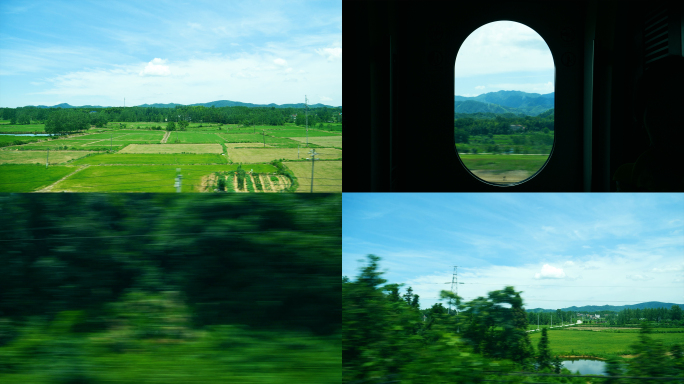
[[[340,337],[294,331],[256,331],[215,326],[178,340],[127,337],[125,349],[107,346],[114,331],[92,334],[26,333],[0,347],[13,372],[4,383],[245,383],[286,384],[341,381]],[[42,353],[32,353],[27,341]]]

